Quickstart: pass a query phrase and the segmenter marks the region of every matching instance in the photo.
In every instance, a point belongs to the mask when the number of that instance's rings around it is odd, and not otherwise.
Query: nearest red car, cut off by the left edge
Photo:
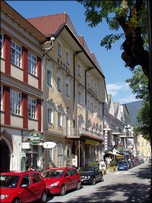
[[[38,171],[0,173],[0,202],[47,201],[46,183]]]

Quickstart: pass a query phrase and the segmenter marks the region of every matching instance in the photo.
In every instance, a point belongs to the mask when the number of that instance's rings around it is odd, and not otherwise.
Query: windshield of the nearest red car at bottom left
[[[0,187],[1,188],[16,188],[18,185],[20,177],[14,176],[14,175],[8,175],[8,176],[0,176]]]

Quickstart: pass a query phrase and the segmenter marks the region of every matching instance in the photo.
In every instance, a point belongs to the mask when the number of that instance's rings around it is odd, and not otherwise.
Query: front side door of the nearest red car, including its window
[[[30,183],[30,176],[29,174],[24,175],[22,177],[22,180],[20,182],[20,198],[22,202],[31,202],[33,201],[33,189],[32,189],[32,185]]]

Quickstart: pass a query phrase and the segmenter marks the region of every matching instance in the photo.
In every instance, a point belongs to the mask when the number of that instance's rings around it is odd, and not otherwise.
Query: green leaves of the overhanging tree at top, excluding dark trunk
[[[119,20],[123,18],[124,23],[128,24],[128,28],[135,29],[140,26],[143,33],[146,32],[147,12],[146,6],[143,4],[142,9],[136,10],[139,7],[137,1],[114,1],[114,0],[77,0],[85,8],[86,22],[90,27],[96,27],[98,24],[105,20],[110,30],[118,31],[122,28]],[[145,2],[145,1],[143,1]],[[145,26],[143,26],[145,25]],[[122,33],[106,35],[101,41],[101,46],[105,46],[106,49],[111,49],[112,43],[119,40],[126,30],[121,29]],[[130,30],[132,31],[132,30]]]

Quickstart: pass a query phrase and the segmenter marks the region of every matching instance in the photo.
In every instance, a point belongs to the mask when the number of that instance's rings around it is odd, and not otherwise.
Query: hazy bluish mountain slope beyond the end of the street
[[[132,126],[138,125],[136,116],[138,114],[138,111],[142,107],[142,102],[143,102],[142,100],[139,100],[139,101],[130,102],[130,103],[126,104],[128,111],[129,111],[129,115],[130,115],[130,125],[132,125]]]

